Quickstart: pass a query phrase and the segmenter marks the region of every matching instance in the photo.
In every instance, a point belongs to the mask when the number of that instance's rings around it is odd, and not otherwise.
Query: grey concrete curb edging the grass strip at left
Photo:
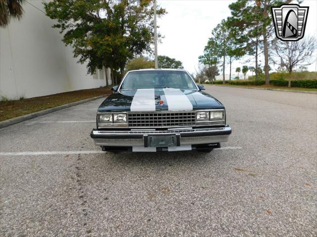
[[[40,117],[42,115],[47,115],[47,114],[53,113],[55,111],[66,109],[66,108],[69,108],[69,107],[72,107],[72,106],[75,106],[75,105],[79,105],[79,104],[86,103],[86,102],[89,102],[89,101],[97,100],[97,99],[100,99],[100,98],[103,98],[103,97],[105,97],[105,95],[99,95],[99,96],[96,96],[96,97],[93,97],[93,98],[80,100],[80,101],[76,101],[76,102],[73,102],[73,103],[60,105],[60,106],[57,106],[57,107],[54,107],[54,108],[51,108],[51,109],[38,111],[38,112],[35,112],[35,113],[32,113],[32,114],[23,115],[23,116],[20,116],[20,117],[10,118],[10,119],[4,120],[4,121],[0,121],[0,128],[7,127],[7,126],[13,125],[15,123],[23,122],[23,121],[26,121],[26,120],[29,120],[29,119],[32,119],[32,118],[37,118],[37,117]]]

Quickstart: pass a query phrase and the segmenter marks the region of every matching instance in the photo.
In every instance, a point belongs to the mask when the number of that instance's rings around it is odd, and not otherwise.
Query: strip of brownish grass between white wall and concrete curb
[[[0,101],[0,121],[50,109],[56,106],[89,99],[99,95],[109,95],[108,87],[76,90],[47,96],[21,100]]]

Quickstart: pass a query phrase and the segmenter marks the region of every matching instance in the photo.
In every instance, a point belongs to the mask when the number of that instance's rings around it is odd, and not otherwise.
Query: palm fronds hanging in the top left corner
[[[21,19],[23,15],[22,3],[25,0],[0,0],[0,27],[6,27],[11,18]]]

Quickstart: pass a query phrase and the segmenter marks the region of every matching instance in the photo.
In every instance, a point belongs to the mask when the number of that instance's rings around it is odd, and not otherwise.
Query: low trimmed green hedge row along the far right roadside
[[[265,80],[226,80],[226,84],[230,85],[264,85]],[[222,84],[222,80],[215,80],[213,84]],[[271,79],[269,81],[271,85],[275,86],[288,86],[288,80]],[[210,84],[208,82],[207,84]],[[292,87],[303,87],[303,88],[317,88],[317,80],[292,80]]]

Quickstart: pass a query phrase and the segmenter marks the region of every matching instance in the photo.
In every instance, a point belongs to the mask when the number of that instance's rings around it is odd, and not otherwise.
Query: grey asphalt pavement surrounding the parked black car
[[[0,129],[0,236],[317,235],[317,95],[207,86],[230,141],[104,153],[103,99]]]

